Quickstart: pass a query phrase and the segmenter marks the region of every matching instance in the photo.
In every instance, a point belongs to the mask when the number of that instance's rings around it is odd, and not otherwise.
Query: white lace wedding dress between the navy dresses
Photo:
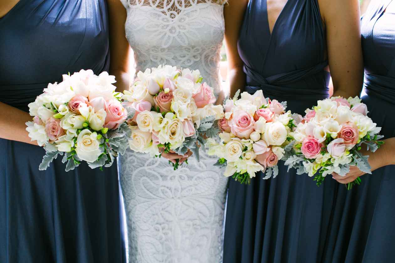
[[[218,93],[223,0],[121,0],[136,70],[199,69]],[[128,151],[119,172],[130,263],[222,262],[227,179],[205,153],[177,171],[164,158]]]

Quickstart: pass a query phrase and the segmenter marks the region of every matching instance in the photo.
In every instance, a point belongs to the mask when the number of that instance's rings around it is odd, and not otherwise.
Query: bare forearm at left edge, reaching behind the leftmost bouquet
[[[0,116],[0,138],[37,145],[37,141],[32,142],[26,131],[25,123],[31,121],[32,116],[5,103],[0,103],[0,111],[7,112]]]

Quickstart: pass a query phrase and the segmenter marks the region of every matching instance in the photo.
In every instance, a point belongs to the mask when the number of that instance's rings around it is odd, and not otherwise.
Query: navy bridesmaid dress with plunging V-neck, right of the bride
[[[239,37],[245,88],[304,110],[329,96],[326,38],[317,0],[288,0],[273,32],[266,0],[250,0]],[[279,162],[275,179],[230,180],[224,263],[320,262],[337,183],[317,187]]]

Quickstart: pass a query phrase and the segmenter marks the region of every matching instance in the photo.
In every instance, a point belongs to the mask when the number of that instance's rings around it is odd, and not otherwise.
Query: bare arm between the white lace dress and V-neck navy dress
[[[243,72],[243,60],[237,50],[239,32],[243,23],[244,13],[248,0],[229,0],[224,7],[225,17],[225,45],[228,58],[228,85],[230,95],[233,96],[237,90],[244,90],[245,73]]]

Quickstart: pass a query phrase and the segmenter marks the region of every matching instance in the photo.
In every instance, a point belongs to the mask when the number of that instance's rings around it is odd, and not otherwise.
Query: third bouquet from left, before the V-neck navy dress
[[[291,112],[285,112],[286,103],[266,100],[261,90],[254,95],[236,93],[225,101],[225,116],[218,121],[222,131],[220,142],[207,141],[209,155],[219,158],[216,165],[226,166],[224,175],[240,183],[250,184],[256,172],[265,172],[263,179],[278,174],[278,160],[284,156],[284,147],[295,126]]]

